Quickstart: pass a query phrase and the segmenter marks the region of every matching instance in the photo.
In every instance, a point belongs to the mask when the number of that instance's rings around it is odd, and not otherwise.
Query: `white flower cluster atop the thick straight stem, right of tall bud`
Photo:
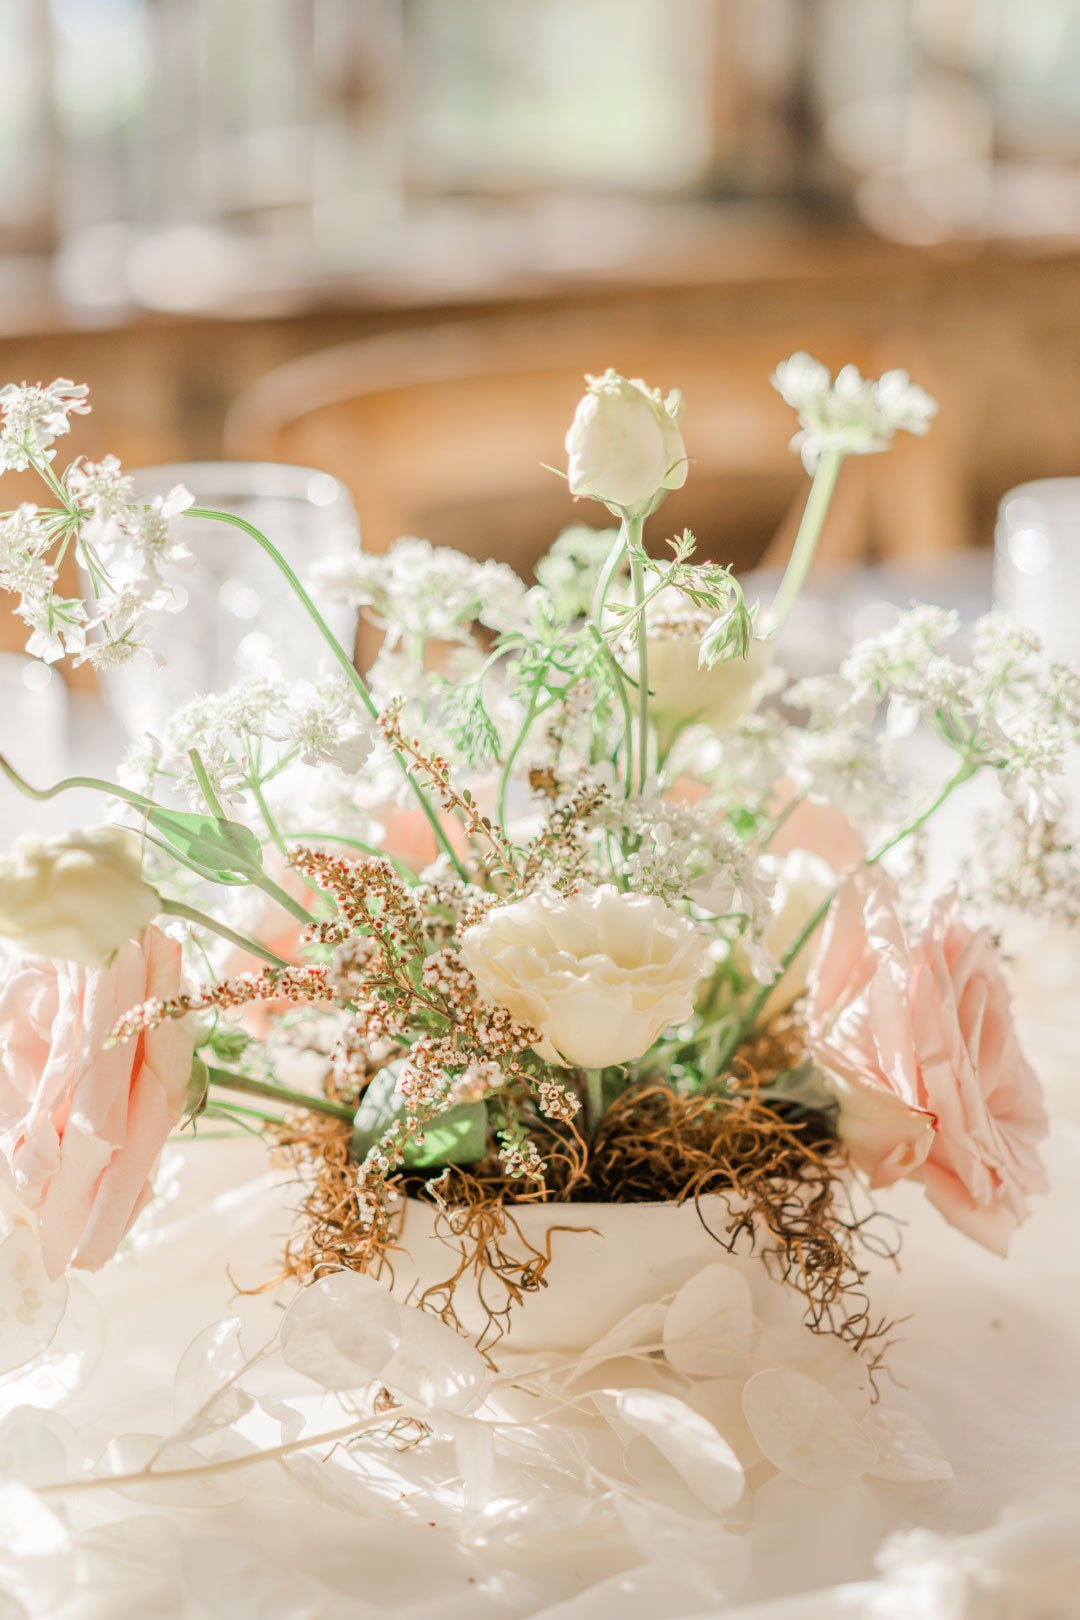
[[[798,415],[792,449],[810,473],[826,450],[873,455],[899,431],[926,433],[938,415],[938,402],[907,371],[886,371],[873,381],[844,366],[834,381],[819,360],[801,352],[776,368],[772,387]]]

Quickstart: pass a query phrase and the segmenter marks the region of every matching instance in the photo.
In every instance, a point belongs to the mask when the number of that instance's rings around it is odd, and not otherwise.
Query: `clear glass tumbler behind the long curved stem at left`
[[[176,462],[141,467],[131,476],[142,501],[185,484],[196,505],[232,512],[261,530],[351,654],[356,612],[321,599],[311,582],[321,557],[359,546],[345,484],[311,467],[272,462]],[[330,661],[325,642],[257,541],[232,523],[186,515],[175,522],[194,565],[172,573],[183,608],[154,614],[151,645],[165,663],[157,669],[142,656],[102,679],[130,737],[155,731],[198,693],[220,692],[248,674],[298,680]]]

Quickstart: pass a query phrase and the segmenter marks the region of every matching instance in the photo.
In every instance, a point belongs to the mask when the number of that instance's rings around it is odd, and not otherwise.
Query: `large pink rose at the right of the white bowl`
[[[949,894],[908,946],[892,883],[861,868],[829,912],[808,1022],[871,1186],[921,1181],[947,1221],[1006,1254],[1046,1191],[1046,1115],[988,930]]]

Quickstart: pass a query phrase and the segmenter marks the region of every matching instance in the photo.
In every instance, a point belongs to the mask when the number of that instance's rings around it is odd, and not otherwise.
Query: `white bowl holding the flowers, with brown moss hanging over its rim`
[[[585,1349],[636,1306],[672,1293],[716,1260],[738,1265],[751,1281],[761,1278],[763,1262],[750,1252],[746,1236],[732,1256],[703,1223],[701,1217],[725,1236],[732,1209],[719,1192],[701,1199],[701,1215],[693,1204],[512,1205],[499,1238],[502,1254],[528,1260],[551,1244],[552,1260],[541,1286],[510,1307],[504,1343],[515,1353]],[[447,1283],[461,1260],[458,1239],[418,1199],[406,1200],[400,1244],[392,1254],[397,1299],[416,1302],[426,1290]],[[479,1336],[489,1312],[505,1304],[507,1290],[489,1270],[479,1281],[466,1272],[453,1288],[455,1314],[471,1336]]]

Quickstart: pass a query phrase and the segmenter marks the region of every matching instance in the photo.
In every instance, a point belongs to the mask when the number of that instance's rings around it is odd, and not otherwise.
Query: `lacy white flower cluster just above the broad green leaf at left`
[[[202,807],[189,758],[189,750],[198,750],[219,799],[240,804],[248,787],[277,781],[293,760],[359,770],[372,737],[366,711],[343,680],[283,682],[256,674],[227,692],[185,703],[160,737],[147,735],[128,752],[121,781],[147,792],[159,778],[172,778],[191,804]]]

